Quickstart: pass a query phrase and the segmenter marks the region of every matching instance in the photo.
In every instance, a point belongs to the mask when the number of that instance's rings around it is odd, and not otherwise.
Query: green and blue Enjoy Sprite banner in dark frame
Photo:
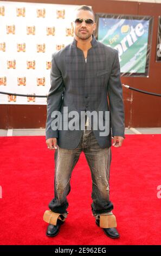
[[[96,14],[96,38],[119,53],[122,76],[148,76],[152,17]]]

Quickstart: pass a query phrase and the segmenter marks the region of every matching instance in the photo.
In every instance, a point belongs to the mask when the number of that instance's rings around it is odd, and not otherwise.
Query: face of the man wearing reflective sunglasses
[[[91,13],[91,11],[85,11],[85,10],[77,11],[74,16],[74,21],[78,18],[90,19],[94,21],[94,16]],[[93,31],[95,30],[95,22],[93,22],[92,24],[87,24],[85,20],[83,20],[82,23],[72,22],[72,26],[74,27],[74,34],[82,40],[86,40],[90,38],[90,36],[93,34]]]

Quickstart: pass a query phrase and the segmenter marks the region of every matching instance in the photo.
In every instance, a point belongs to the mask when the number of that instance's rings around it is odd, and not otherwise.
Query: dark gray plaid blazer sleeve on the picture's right
[[[112,136],[122,136],[125,138],[123,88],[120,80],[118,51],[115,54],[111,76],[108,80],[107,91],[110,103]]]

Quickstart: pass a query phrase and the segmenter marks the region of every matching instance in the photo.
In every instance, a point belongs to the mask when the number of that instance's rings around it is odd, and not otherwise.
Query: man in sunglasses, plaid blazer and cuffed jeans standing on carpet
[[[72,44],[55,52],[51,61],[46,143],[55,149],[55,180],[54,198],[43,216],[49,223],[46,234],[57,235],[65,223],[70,178],[83,151],[91,169],[96,225],[116,238],[119,233],[109,196],[111,145],[121,147],[125,138],[118,51],[95,39],[94,13],[86,5],[75,11],[72,26]],[[78,209],[85,211],[81,202]]]

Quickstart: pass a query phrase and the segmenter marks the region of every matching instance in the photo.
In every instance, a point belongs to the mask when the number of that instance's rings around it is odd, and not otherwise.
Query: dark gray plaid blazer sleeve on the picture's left
[[[47,96],[47,120],[46,120],[46,139],[58,138],[58,130],[51,129],[51,113],[53,111],[60,111],[62,96],[64,90],[63,78],[60,69],[57,67],[55,61],[56,53],[52,54],[51,58],[51,71],[50,71],[50,84],[51,87]]]

